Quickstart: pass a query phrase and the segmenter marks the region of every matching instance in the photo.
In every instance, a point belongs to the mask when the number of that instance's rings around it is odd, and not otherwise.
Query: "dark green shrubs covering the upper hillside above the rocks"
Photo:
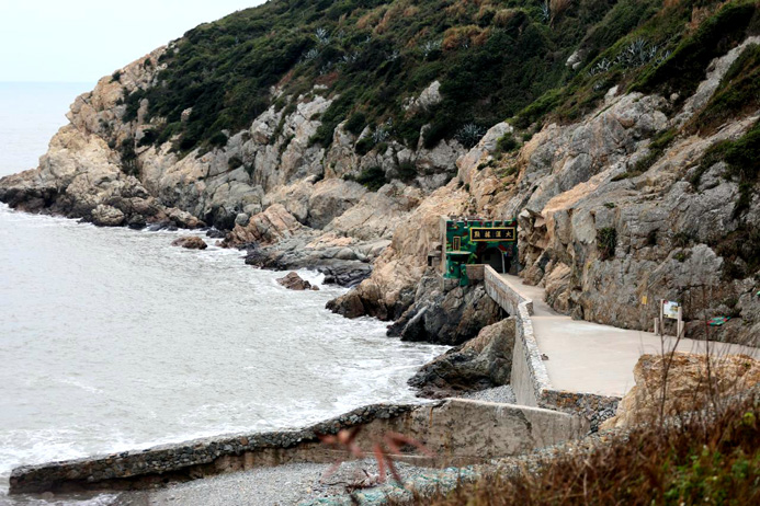
[[[529,138],[542,122],[578,119],[614,85],[676,96],[678,105],[711,59],[760,33],[758,5],[757,0],[272,0],[173,42],[157,84],[124,97],[123,119],[136,118],[140,101],[148,99],[148,117],[160,120],[140,143],[175,139],[174,149],[186,153],[224,146],[271,105],[292,113],[298,96],[319,93],[334,99],[310,140],[322,147],[341,122],[354,135],[368,131],[355,146],[361,154],[390,140],[416,147],[421,131],[428,148],[453,138],[469,147],[508,118]],[[760,103],[758,55],[755,48],[737,61],[689,128],[714,130]],[[434,80],[443,101],[408,114],[405,104]],[[273,94],[273,87],[281,93]],[[282,125],[272,141],[281,131]],[[624,176],[648,169],[676,135],[661,133],[651,156]],[[377,180],[365,176],[373,184]]]

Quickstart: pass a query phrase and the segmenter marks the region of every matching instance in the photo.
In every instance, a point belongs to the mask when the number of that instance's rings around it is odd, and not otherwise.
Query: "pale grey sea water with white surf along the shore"
[[[34,166],[82,89],[0,85],[1,173]],[[341,288],[285,290],[281,273],[212,240],[203,252],[171,246],[180,234],[0,205],[0,505],[46,504],[7,495],[16,465],[410,401],[406,380],[445,349],[330,313]]]

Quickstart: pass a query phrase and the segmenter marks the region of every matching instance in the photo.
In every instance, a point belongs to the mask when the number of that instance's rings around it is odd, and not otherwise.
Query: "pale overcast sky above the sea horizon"
[[[0,0],[0,82],[92,82],[263,0]]]

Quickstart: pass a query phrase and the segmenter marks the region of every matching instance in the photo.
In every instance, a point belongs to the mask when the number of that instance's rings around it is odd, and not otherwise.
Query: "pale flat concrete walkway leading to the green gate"
[[[533,330],[552,386],[558,390],[623,396],[634,386],[633,368],[644,354],[670,352],[674,337],[643,331],[617,329],[572,320],[544,302],[544,289],[523,285],[518,276],[502,275],[533,300]],[[679,352],[704,353],[706,342],[681,340]],[[759,357],[758,348],[710,342],[710,352],[717,356],[744,353]]]

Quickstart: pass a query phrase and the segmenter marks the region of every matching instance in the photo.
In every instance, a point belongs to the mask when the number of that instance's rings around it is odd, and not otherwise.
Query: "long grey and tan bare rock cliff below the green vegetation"
[[[103,78],[78,97],[39,166],[0,180],[0,200],[102,226],[231,230],[224,244],[245,248],[247,263],[320,268],[336,283],[359,283],[329,308],[383,320],[418,306],[427,255],[441,245],[441,215],[518,218],[522,276],[545,287],[558,311],[648,330],[654,301],[681,300],[688,334],[703,332],[696,321],[705,313],[731,315],[711,337],[757,344],[756,273],[731,254],[757,244],[741,235],[760,230],[757,183],[747,193],[748,183],[725,176],[725,164],[701,162],[712,146],[746,134],[760,111],[744,111],[715,131],[690,127],[753,43],[713,61],[691,97],[613,87],[597,111],[544,125],[510,153],[499,139],[529,133],[507,123],[469,150],[457,140],[426,148],[420,136],[417,146],[389,140],[363,153],[358,143],[372,129],[354,135],[344,125],[329,147],[315,145],[309,139],[336,100],[316,83],[298,96],[274,87],[272,102],[286,107],[273,103],[241,131],[225,131],[223,146],[178,153],[172,139],[144,141],[168,118],[149,115],[146,101],[127,114],[123,100],[160,85],[160,48],[122,69],[120,80]],[[568,65],[583,59],[578,55]],[[447,100],[442,89],[433,81],[406,102],[407,117],[421,119]],[[654,142],[662,138],[670,140]],[[367,171],[386,183],[377,192],[355,182]],[[737,218],[740,198],[746,210]],[[444,294],[436,300],[444,309],[407,314],[405,338],[446,335],[443,342],[461,343],[475,335],[476,326],[445,323],[463,298]]]

